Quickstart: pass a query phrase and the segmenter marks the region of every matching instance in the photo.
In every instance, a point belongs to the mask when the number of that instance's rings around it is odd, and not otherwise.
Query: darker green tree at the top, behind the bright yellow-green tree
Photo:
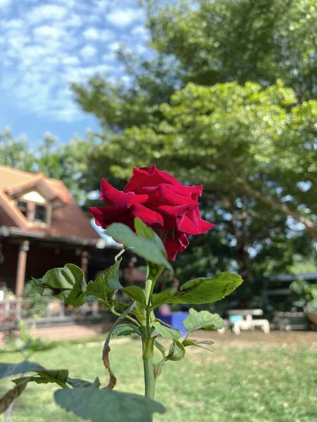
[[[131,83],[97,75],[72,84],[77,102],[113,131],[159,119],[158,104],[188,82],[274,84],[298,98],[317,87],[317,8],[314,0],[145,0],[153,59],[121,49]]]

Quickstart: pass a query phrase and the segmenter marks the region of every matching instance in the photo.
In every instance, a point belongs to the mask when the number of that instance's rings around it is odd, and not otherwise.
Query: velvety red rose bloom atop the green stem
[[[184,186],[155,165],[133,169],[133,174],[122,191],[101,180],[100,199],[108,207],[89,208],[96,224],[106,229],[113,222],[134,228],[139,217],[149,227],[163,234],[169,260],[188,245],[190,234],[203,234],[214,224],[201,219],[198,197],[202,186]]]

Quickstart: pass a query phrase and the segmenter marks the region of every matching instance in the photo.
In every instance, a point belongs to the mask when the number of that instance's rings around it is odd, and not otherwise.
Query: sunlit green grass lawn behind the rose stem
[[[156,422],[314,422],[317,421],[317,354],[314,346],[270,343],[271,335],[249,341],[242,335],[209,334],[213,352],[187,348],[185,359],[163,368],[156,399],[168,409]],[[305,335],[304,333],[302,335]],[[317,338],[317,334],[316,334]],[[111,364],[118,390],[142,394],[140,343],[113,344]],[[159,355],[158,355],[159,357]],[[21,354],[0,354],[1,362],[20,362]],[[107,382],[101,345],[59,343],[30,360],[48,368],[68,368],[73,378]],[[12,387],[1,381],[1,395]],[[75,422],[53,402],[52,385],[30,384],[19,397],[11,422]],[[4,421],[4,416],[0,416]],[[106,418],[105,418],[106,421]]]

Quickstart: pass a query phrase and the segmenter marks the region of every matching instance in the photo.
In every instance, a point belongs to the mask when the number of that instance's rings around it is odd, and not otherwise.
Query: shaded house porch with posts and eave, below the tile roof
[[[113,262],[118,248],[99,241],[52,236],[41,231],[25,232],[18,228],[0,227],[0,290],[10,289],[17,297],[23,295],[25,283],[32,277],[41,278],[54,267],[72,263],[84,271],[87,279]],[[91,261],[101,255],[102,263]],[[102,265],[102,268],[101,268]],[[100,267],[100,268],[99,268]]]

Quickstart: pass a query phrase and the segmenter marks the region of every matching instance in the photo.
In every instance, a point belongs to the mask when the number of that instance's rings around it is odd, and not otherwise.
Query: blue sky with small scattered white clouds
[[[144,53],[144,22],[137,0],[0,0],[0,131],[35,146],[45,132],[66,142],[98,129],[68,83],[125,77],[116,50]]]

